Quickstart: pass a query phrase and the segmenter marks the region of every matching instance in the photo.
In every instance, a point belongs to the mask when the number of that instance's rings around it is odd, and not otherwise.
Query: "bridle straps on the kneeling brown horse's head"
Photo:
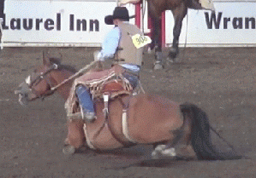
[[[58,68],[57,64],[52,64],[45,72],[40,72],[39,75],[36,78],[31,78],[31,75],[29,75],[25,79],[25,83],[27,83],[28,89],[30,89],[34,95],[36,95],[34,99],[42,98],[44,99],[45,96],[51,95],[55,92],[57,89],[53,86],[53,83],[51,82],[51,79],[49,78],[48,74],[52,72],[53,70],[56,70]],[[45,91],[43,94],[38,94],[38,92],[34,89],[43,79],[45,79],[46,83],[50,86],[50,90]]]

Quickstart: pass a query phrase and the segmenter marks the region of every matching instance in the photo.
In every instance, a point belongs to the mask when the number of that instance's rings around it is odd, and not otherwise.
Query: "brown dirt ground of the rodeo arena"
[[[225,161],[151,161],[152,146],[64,155],[64,100],[55,94],[24,107],[14,94],[41,64],[42,50],[5,48],[0,54],[0,177],[256,177],[255,48],[181,49],[179,62],[161,71],[152,71],[152,54],[144,55],[144,89],[205,110],[211,126],[242,156]],[[60,52],[63,64],[80,69],[94,50],[51,48],[51,54]],[[211,134],[219,150],[231,151]]]

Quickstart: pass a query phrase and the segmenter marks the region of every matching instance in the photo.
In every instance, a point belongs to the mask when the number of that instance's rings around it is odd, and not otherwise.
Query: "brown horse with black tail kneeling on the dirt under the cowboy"
[[[80,75],[59,60],[44,57],[43,65],[33,70],[16,94],[21,103],[45,98],[55,91],[67,100],[74,76]],[[103,109],[104,101],[98,99],[95,100],[95,121],[67,120],[68,135],[63,152],[74,153],[83,146],[108,151],[146,144],[154,148],[152,158],[223,159],[211,143],[207,114],[198,106],[141,93],[118,95],[110,100],[107,119]],[[175,149],[182,153],[176,154]]]

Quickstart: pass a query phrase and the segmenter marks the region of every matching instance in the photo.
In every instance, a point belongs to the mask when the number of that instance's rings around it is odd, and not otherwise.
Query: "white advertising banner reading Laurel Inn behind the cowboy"
[[[100,46],[115,1],[5,0],[4,46]],[[127,5],[130,15],[134,5]],[[131,20],[134,23],[134,20]]]

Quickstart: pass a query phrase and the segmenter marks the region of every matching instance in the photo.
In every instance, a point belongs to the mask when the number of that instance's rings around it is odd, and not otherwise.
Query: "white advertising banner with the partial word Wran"
[[[214,2],[215,13],[209,10],[188,10],[182,23],[180,45],[256,46],[256,2]],[[165,42],[171,45],[174,19],[165,13]]]

